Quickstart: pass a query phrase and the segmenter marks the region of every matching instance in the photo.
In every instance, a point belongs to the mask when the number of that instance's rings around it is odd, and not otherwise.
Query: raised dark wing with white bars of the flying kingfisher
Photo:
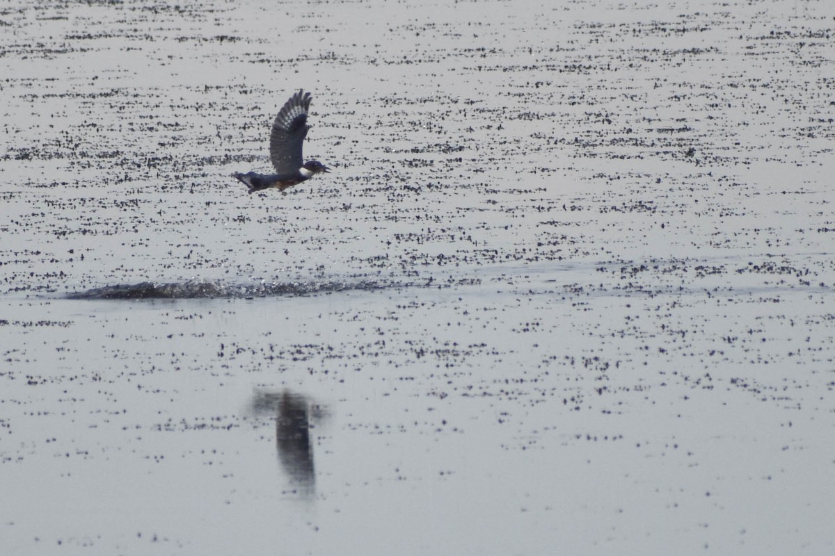
[[[288,100],[272,123],[270,133],[270,160],[278,173],[294,173],[301,168],[301,143],[310,126],[307,111],[311,107],[311,93],[299,89]]]

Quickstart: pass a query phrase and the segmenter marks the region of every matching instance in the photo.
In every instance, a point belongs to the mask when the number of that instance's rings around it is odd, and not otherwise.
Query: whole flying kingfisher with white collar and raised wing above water
[[[268,188],[284,191],[316,173],[331,171],[331,168],[327,168],[318,160],[301,163],[301,143],[304,143],[307,130],[311,128],[307,125],[307,111],[311,108],[311,100],[311,93],[299,89],[299,92],[284,104],[276,116],[276,121],[272,123],[270,160],[273,168],[276,168],[276,173],[232,174],[233,178],[239,179],[249,188],[249,193]]]

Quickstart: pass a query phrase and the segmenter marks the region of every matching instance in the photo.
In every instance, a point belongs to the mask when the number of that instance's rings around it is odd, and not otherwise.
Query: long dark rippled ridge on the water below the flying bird
[[[371,291],[397,288],[402,283],[380,283],[375,280],[358,282],[312,281],[269,282],[235,284],[222,282],[189,281],[183,283],[141,282],[116,284],[84,292],[68,293],[70,299],[197,299],[197,298],[253,298],[272,295],[306,295],[311,293],[343,292],[347,290]]]

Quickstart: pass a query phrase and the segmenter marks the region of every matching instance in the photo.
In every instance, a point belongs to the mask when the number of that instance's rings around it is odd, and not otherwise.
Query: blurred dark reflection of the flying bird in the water
[[[281,467],[299,493],[306,498],[312,496],[316,489],[316,473],[310,431],[313,423],[322,416],[321,406],[291,390],[258,390],[252,397],[252,408],[256,415],[276,416],[276,449]]]

